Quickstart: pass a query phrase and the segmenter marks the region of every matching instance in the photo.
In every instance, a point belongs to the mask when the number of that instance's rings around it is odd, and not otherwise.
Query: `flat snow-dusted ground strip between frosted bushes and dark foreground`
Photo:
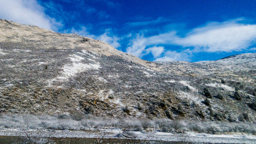
[[[165,132],[123,132],[120,129],[95,130],[95,131],[70,131],[70,130],[0,130],[0,136],[50,136],[55,138],[104,138],[104,139],[130,139],[152,140],[166,142],[194,142],[194,143],[226,143],[226,144],[254,144],[256,136],[243,133],[206,134],[186,132],[184,134]]]

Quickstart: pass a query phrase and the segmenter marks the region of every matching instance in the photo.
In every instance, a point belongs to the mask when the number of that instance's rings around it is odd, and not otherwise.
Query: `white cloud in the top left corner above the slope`
[[[0,18],[55,31],[61,26],[36,0],[0,0]]]

